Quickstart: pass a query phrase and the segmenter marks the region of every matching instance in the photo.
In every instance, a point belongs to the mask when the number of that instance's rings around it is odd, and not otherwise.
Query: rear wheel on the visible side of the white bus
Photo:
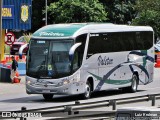
[[[131,86],[129,87],[130,92],[136,92],[138,87],[138,77],[136,74],[133,74],[131,80]]]

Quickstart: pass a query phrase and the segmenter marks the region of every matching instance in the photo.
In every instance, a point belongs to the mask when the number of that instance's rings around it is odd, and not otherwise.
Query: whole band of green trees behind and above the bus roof
[[[45,0],[33,0],[32,31],[45,25]],[[43,10],[43,13],[42,13]],[[152,26],[160,36],[160,0],[48,0],[48,24],[111,22]]]

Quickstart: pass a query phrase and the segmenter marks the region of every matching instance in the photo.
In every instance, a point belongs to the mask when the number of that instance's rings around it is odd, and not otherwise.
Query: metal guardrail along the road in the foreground
[[[63,120],[63,119],[76,119],[76,118],[84,118],[84,117],[114,117],[117,105],[122,104],[130,104],[130,103],[137,103],[137,102],[144,102],[144,101],[151,101],[151,106],[155,106],[156,100],[160,99],[160,93],[158,94],[148,94],[142,96],[135,96],[129,98],[117,98],[117,99],[110,99],[110,100],[101,100],[95,102],[87,102],[81,103],[80,101],[75,101],[75,104],[63,105],[63,106],[56,106],[56,107],[46,107],[46,108],[39,108],[39,109],[29,109],[27,110],[26,107],[22,107],[19,111],[12,111],[14,113],[41,113],[43,117],[52,117],[51,119],[54,120]],[[102,107],[112,107],[110,111],[92,111],[86,112],[84,110],[91,110],[95,108],[102,108]],[[2,112],[0,112],[0,119],[2,118]],[[5,119],[5,118],[3,118]],[[45,118],[46,119],[46,118]],[[50,118],[48,118],[50,119]],[[109,118],[110,119],[110,118]],[[21,120],[25,120],[21,118]]]

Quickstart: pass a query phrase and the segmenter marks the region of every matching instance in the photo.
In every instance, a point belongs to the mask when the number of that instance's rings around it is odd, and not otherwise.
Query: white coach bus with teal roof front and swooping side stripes
[[[81,94],[122,88],[136,92],[153,81],[154,33],[151,27],[107,23],[54,24],[31,37],[26,91]]]

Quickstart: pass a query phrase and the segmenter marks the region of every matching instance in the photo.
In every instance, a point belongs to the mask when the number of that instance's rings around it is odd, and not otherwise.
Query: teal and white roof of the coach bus
[[[153,31],[148,26],[116,25],[111,23],[68,23],[53,24],[40,28],[33,33],[33,38],[76,37],[84,33]]]

